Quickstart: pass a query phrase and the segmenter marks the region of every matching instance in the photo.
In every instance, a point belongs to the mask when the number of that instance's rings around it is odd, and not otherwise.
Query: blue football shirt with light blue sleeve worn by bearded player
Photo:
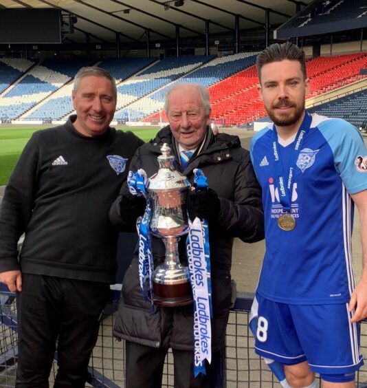
[[[280,303],[344,303],[354,288],[350,194],[367,188],[367,151],[359,131],[348,122],[316,114],[311,119],[293,173],[291,215],[296,228],[290,231],[277,224],[283,206],[272,147],[274,126],[252,138],[266,239],[257,291]],[[293,149],[293,143],[278,144],[286,178]]]

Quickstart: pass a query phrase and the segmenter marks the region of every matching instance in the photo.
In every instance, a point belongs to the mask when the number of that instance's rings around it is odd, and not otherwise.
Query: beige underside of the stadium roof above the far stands
[[[57,8],[76,16],[74,32],[67,40],[126,43],[175,39],[179,25],[180,39],[205,34],[234,33],[238,28],[263,28],[269,15],[271,26],[281,25],[313,0],[0,0],[1,8]],[[268,12],[267,12],[268,11]],[[205,23],[205,21],[207,21]]]

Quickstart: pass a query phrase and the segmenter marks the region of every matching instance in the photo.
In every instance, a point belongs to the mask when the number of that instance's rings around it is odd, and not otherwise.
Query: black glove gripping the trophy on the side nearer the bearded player
[[[208,222],[213,222],[218,218],[221,201],[212,188],[190,191],[189,199],[194,207],[195,216],[206,219]]]

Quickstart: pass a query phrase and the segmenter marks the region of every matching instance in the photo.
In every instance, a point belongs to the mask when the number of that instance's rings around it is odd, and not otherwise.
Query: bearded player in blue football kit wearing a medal
[[[266,252],[252,325],[256,353],[282,365],[283,387],[355,387],[359,321],[367,316],[367,151],[353,125],[310,115],[304,52],[274,44],[258,55],[260,96],[274,124],[252,139],[263,188]],[[354,204],[364,271],[351,264]]]

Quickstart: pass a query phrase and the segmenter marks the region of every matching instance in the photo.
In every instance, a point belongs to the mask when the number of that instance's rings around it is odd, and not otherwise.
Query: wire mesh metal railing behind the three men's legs
[[[118,292],[108,303],[98,342],[89,363],[88,387],[124,387],[124,341],[112,336],[114,313]],[[280,387],[278,380],[254,352],[254,338],[249,330],[249,311],[253,294],[237,294],[236,303],[227,325],[225,350],[212,360],[216,370],[215,387],[227,388],[273,388]],[[361,325],[361,351],[367,354],[367,325]],[[0,288],[0,387],[14,387],[16,359],[18,355],[16,335],[16,304],[14,294]],[[56,361],[50,383],[54,380]],[[168,352],[164,367],[162,387],[173,387],[173,356]],[[357,387],[367,387],[367,367],[357,372]]]

